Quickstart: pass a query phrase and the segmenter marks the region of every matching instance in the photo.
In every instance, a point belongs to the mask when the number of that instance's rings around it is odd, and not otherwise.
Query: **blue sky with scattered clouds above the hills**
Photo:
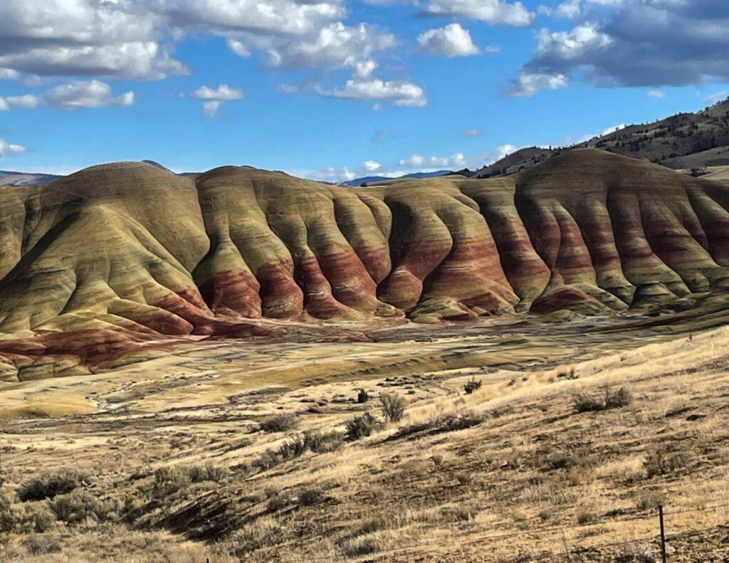
[[[729,96],[725,0],[2,0],[0,168],[475,168]]]

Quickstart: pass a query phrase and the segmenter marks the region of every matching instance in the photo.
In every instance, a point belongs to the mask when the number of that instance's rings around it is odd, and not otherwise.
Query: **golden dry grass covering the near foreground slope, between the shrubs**
[[[157,416],[12,422],[0,441],[0,521],[12,519],[0,561],[647,561],[659,502],[672,560],[720,559],[728,343],[720,329],[548,370],[484,370],[469,394],[474,373],[445,371]],[[575,410],[574,397],[603,400],[606,385],[632,401]],[[360,388],[375,401],[358,403]],[[379,418],[379,397],[393,393],[408,397],[400,422],[340,442],[348,420]],[[274,415],[300,425],[257,432]],[[282,448],[296,454],[256,463]],[[89,481],[59,495],[71,516],[56,500],[20,502],[21,484],[81,459]]]

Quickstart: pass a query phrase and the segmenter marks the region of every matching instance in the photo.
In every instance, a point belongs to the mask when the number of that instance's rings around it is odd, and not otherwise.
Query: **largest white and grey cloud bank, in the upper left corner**
[[[189,73],[165,38],[217,34],[246,56],[236,34],[315,34],[345,14],[340,0],[2,0],[0,69],[160,79]]]

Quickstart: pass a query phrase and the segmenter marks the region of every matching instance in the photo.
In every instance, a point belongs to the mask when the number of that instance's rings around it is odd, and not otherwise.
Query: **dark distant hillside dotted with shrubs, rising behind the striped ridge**
[[[604,149],[674,169],[729,166],[729,99],[701,112],[677,114],[647,125],[630,125],[573,147],[521,149],[480,168],[474,177],[515,174],[575,148]]]

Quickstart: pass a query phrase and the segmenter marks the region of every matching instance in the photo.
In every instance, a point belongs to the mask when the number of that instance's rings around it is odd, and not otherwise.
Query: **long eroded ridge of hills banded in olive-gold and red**
[[[137,162],[2,187],[0,375],[284,326],[268,319],[609,314],[723,293],[728,209],[727,187],[600,150],[359,190]]]

